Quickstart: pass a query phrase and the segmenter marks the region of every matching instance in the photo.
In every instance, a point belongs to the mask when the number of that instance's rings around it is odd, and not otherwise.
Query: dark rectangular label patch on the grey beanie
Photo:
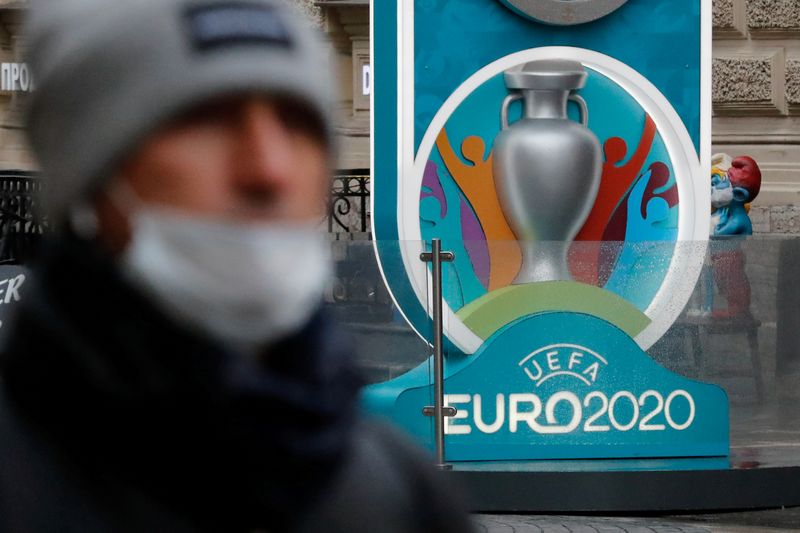
[[[278,10],[247,2],[219,2],[186,12],[189,34],[197,50],[242,44],[291,48],[289,28]]]

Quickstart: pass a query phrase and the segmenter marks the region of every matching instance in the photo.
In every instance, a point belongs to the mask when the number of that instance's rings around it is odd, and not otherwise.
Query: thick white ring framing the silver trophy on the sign
[[[678,243],[664,283],[653,302],[645,311],[652,320],[637,337],[636,342],[647,349],[660,339],[674,323],[688,302],[700,276],[706,254],[709,227],[710,189],[705,179],[694,142],[683,121],[666,97],[649,81],[628,65],[610,56],[582,48],[549,46],[523,50],[505,56],[482,68],[465,81],[445,101],[423,137],[413,164],[413,171],[400,174],[398,197],[398,230],[400,241],[418,243],[422,240],[419,225],[419,191],[425,164],[430,157],[436,136],[459,105],[478,87],[506,70],[538,59],[562,58],[580,61],[586,67],[604,74],[619,84],[650,114],[658,127],[676,174],[680,202]],[[705,56],[704,56],[705,59]],[[705,63],[705,61],[704,61]],[[705,68],[705,65],[702,67]],[[704,74],[705,76],[705,74]],[[701,92],[705,95],[704,78]],[[706,99],[703,98],[701,114],[703,128],[701,142],[705,144],[708,133]],[[708,151],[708,155],[706,154]],[[710,161],[710,146],[701,149],[702,159]],[[707,166],[707,165],[706,165]],[[698,179],[693,177],[697,176]],[[401,245],[401,255],[414,292],[423,306],[430,309],[428,295],[430,278],[426,265]],[[415,261],[416,260],[416,261]],[[445,334],[465,353],[474,353],[483,340],[461,322],[449,305],[444,305]]]

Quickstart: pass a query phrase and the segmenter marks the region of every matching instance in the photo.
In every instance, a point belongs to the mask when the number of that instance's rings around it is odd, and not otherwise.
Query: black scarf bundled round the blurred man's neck
[[[0,365],[12,404],[70,460],[248,526],[320,494],[361,385],[324,313],[243,357],[171,322],[72,236],[44,247]]]

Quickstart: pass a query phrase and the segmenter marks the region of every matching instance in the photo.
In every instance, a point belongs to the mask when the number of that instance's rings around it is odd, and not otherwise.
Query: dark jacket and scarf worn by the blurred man
[[[323,313],[244,357],[74,237],[26,289],[0,360],[0,532],[469,529],[425,458],[361,419]]]

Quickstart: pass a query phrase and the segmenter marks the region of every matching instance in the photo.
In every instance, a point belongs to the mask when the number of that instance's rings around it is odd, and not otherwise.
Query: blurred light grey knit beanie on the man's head
[[[166,120],[215,96],[290,94],[330,127],[321,42],[281,0],[35,0],[28,138],[56,221]]]

